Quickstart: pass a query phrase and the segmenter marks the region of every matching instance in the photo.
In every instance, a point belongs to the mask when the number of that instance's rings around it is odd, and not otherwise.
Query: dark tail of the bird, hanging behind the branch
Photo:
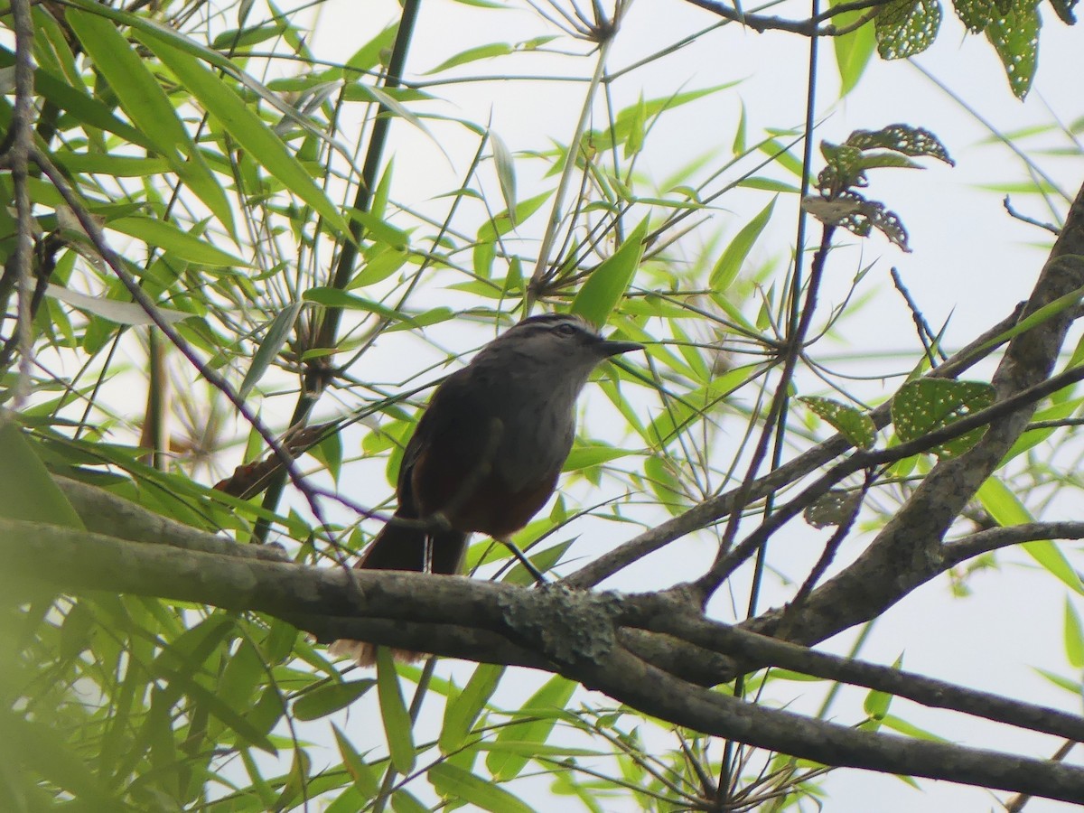
[[[424,531],[409,526],[388,522],[354,565],[364,570],[413,570],[433,573],[457,573],[466,553],[467,535],[462,531]],[[429,549],[428,552],[426,549]],[[426,568],[426,555],[431,557]],[[386,622],[391,623],[391,622]],[[327,647],[334,657],[348,656],[360,667],[376,663],[376,644],[365,641],[340,638]],[[392,649],[397,660],[415,661],[423,653]]]

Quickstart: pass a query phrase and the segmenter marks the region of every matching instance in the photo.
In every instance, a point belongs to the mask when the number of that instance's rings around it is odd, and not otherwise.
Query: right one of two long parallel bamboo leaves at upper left
[[[335,232],[349,233],[346,219],[338,207],[317,185],[282,139],[263,124],[232,88],[202,62],[176,48],[171,41],[145,30],[139,31],[138,36],[256,163],[320,212]]]

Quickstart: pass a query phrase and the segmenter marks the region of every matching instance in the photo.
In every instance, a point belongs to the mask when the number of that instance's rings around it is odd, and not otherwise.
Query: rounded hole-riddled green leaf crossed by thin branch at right
[[[892,399],[892,422],[900,440],[921,438],[935,429],[984,410],[994,402],[994,388],[983,382],[934,378],[908,382]],[[939,457],[963,454],[985,434],[980,426],[929,451]]]

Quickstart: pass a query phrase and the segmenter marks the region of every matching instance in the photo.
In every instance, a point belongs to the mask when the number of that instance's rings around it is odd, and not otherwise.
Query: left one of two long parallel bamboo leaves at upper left
[[[233,234],[233,210],[225,192],[207,168],[158,80],[128,40],[113,23],[90,11],[68,9],[65,20],[94,66],[109,82],[132,124],[151,140],[173,171]],[[178,155],[178,151],[188,160]]]

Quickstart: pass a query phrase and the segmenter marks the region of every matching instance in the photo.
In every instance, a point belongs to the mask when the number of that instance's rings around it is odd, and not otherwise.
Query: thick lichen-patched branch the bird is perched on
[[[223,541],[223,551],[241,547]],[[438,653],[449,649],[489,660],[502,658],[559,671],[635,708],[680,725],[779,750],[827,764],[850,765],[966,782],[1056,799],[1084,800],[1084,770],[951,745],[854,731],[842,725],[746,704],[712,692],[643,661],[628,651],[617,625],[655,617],[670,631],[701,644],[745,644],[752,636],[697,620],[695,605],[683,618],[670,598],[569,591],[526,590],[459,577],[312,568],[254,557],[129,542],[82,530],[0,520],[0,551],[7,578],[70,593],[109,592],[192,601],[234,610],[258,610],[292,620],[321,637],[378,633],[388,643],[413,644],[403,633],[428,627]],[[232,552],[232,551],[231,551]],[[662,602],[660,604],[659,602]],[[660,610],[664,610],[660,612]],[[669,621],[658,620],[670,618]],[[450,633],[452,645],[443,633]],[[808,658],[816,670],[846,669],[841,659],[802,653],[779,642],[773,659]],[[764,655],[764,651],[760,653]],[[879,668],[864,666],[867,682]],[[891,670],[889,670],[891,671]],[[895,675],[895,688],[906,683]],[[935,694],[935,682],[915,683]],[[916,694],[912,691],[912,694]],[[932,696],[932,695],[931,695]],[[946,695],[951,706],[953,696]],[[973,694],[968,700],[978,698]],[[958,699],[958,698],[957,698]],[[993,702],[993,701],[992,701]],[[1084,721],[1001,698],[1003,711],[1031,714],[1043,731],[1084,735]],[[988,704],[988,706],[991,704]],[[996,705],[994,702],[993,705]]]

